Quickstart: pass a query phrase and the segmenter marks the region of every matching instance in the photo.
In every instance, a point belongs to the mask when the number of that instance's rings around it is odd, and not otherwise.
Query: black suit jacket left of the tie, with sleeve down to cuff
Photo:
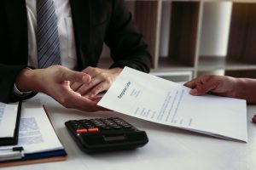
[[[14,94],[16,77],[27,67],[26,2],[3,1],[0,4],[0,23],[0,102],[30,98],[35,93],[25,98]]]

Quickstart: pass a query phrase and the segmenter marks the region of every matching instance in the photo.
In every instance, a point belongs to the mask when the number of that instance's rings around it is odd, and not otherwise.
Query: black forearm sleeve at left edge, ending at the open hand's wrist
[[[36,94],[33,92],[24,97],[14,94],[16,77],[26,67],[27,65],[0,65],[0,102],[9,103],[29,99]]]

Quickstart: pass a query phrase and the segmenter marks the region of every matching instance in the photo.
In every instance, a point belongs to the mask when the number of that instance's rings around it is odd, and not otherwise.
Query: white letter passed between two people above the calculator
[[[189,90],[125,67],[98,105],[150,122],[247,142],[245,100],[192,96]]]

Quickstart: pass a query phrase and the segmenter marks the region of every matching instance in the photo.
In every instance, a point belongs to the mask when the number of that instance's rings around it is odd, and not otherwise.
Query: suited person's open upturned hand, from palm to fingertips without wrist
[[[71,71],[61,65],[52,65],[39,71],[39,83],[43,88],[40,92],[48,94],[66,108],[80,111],[105,111],[97,106],[97,100],[85,98],[73,91],[70,82],[90,82],[90,76],[84,72]],[[86,83],[85,83],[86,84]]]

